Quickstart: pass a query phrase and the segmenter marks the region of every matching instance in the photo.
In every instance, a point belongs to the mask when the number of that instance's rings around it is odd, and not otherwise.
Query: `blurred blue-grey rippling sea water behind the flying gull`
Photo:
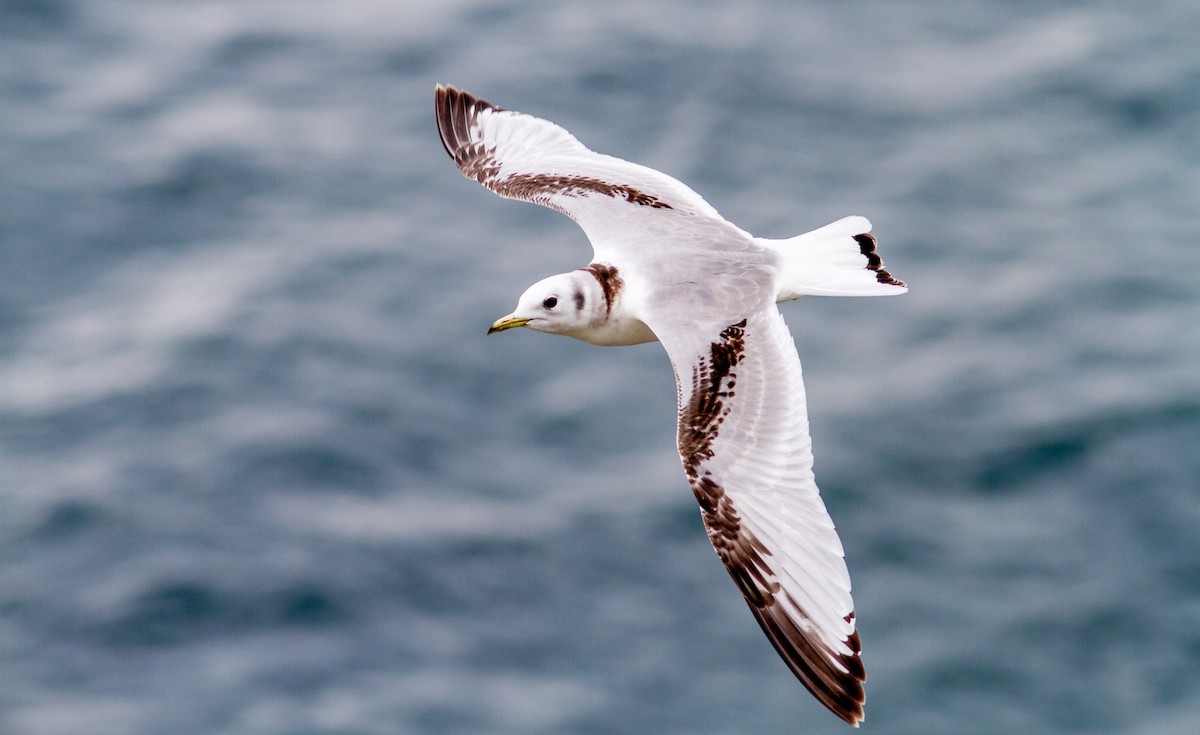
[[[1200,5],[0,1],[0,735],[827,734],[658,345],[451,83],[895,299],[784,307],[864,733],[1200,728]]]

